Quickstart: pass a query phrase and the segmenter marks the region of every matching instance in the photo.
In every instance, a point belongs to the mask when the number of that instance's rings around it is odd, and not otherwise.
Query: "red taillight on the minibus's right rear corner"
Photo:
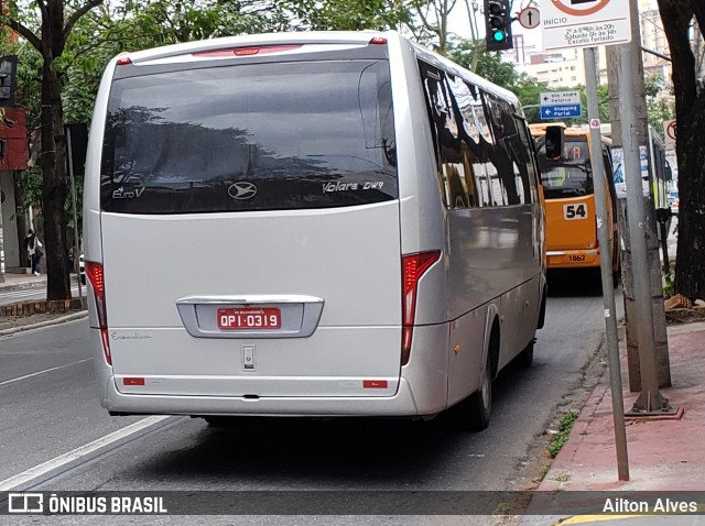
[[[419,280],[441,257],[441,251],[421,252],[403,255],[402,265],[402,300],[401,300],[401,364],[409,363],[411,354],[411,339],[416,317],[416,295]]]

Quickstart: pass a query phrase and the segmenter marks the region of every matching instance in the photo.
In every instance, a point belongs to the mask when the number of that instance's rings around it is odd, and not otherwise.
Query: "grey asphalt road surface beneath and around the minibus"
[[[455,431],[443,418],[267,419],[219,430],[187,417],[110,417],[95,394],[85,320],[2,338],[0,490],[524,489],[536,474],[542,435],[558,408],[586,395],[584,369],[603,340],[599,291],[576,292],[575,280],[561,284],[560,278],[552,282],[534,366],[500,375],[492,423],[479,434]],[[12,518],[12,524],[36,524]],[[379,518],[209,516],[149,523],[440,524],[433,517]],[[470,518],[445,517],[443,524],[490,520]],[[94,524],[96,517],[44,519]],[[134,517],[100,520],[142,524]]]

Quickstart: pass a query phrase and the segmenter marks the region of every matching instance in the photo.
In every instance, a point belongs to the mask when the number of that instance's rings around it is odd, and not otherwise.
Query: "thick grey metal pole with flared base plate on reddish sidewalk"
[[[636,315],[639,341],[639,364],[641,370],[641,393],[630,416],[674,414],[669,401],[659,392],[657,359],[653,331],[653,309],[651,280],[647,256],[648,224],[643,207],[641,184],[641,161],[637,139],[637,108],[633,97],[631,46],[620,45],[619,56],[619,114],[621,116],[621,139],[623,149],[625,180],[627,183],[627,212],[631,244],[631,270],[633,275]]]

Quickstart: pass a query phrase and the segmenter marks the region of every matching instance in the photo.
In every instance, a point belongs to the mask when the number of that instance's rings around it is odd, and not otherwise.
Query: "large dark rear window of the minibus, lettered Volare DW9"
[[[387,61],[147,72],[115,80],[110,91],[102,210],[282,210],[398,198]]]

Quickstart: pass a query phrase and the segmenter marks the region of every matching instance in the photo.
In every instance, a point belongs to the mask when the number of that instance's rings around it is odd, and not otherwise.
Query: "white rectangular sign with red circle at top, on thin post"
[[[631,41],[626,0],[541,0],[544,51]]]

